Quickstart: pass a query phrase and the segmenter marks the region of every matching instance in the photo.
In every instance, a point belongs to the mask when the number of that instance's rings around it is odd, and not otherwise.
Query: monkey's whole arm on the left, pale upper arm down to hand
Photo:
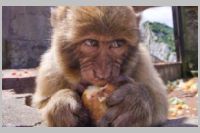
[[[33,106],[40,110],[48,126],[83,126],[89,117],[80,96],[68,87],[50,57],[48,52],[42,57]]]

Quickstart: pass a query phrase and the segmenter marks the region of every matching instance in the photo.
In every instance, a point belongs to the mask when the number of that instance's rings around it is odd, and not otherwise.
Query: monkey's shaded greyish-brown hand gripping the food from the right
[[[106,100],[108,110],[98,126],[150,126],[152,99],[147,88],[128,77],[120,77],[117,85]]]

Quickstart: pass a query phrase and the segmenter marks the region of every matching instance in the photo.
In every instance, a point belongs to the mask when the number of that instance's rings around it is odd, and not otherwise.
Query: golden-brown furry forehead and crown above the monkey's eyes
[[[136,14],[125,6],[73,7],[68,10],[65,22],[66,30],[76,37],[93,33],[133,39],[138,33]]]

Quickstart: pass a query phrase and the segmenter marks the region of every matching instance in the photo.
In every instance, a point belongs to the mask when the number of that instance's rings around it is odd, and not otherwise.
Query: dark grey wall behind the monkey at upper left
[[[50,45],[50,7],[2,7],[3,68],[31,68]]]

